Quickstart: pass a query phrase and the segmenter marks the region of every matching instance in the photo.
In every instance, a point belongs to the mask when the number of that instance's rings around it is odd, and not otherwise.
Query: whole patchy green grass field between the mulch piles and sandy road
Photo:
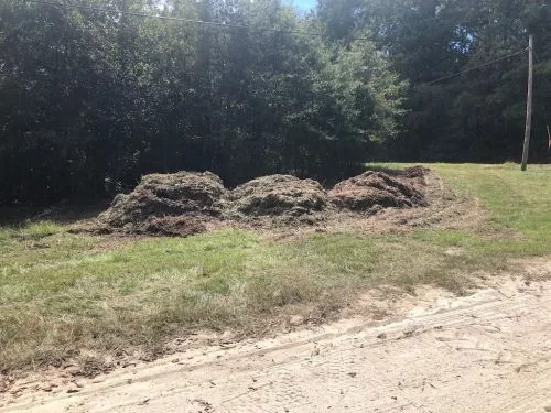
[[[261,334],[290,312],[334,316],[381,284],[462,293],[474,270],[551,252],[551,166],[526,174],[514,164],[428,166],[482,202],[486,228],[283,241],[239,230],[125,240],[72,235],[54,222],[0,228],[0,371],[161,352],[170,338],[199,328]]]

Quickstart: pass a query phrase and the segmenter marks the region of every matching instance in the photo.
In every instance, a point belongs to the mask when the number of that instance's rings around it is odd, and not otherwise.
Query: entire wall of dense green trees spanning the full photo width
[[[334,180],[376,157],[515,159],[525,55],[425,83],[521,50],[528,32],[544,156],[547,0],[320,0],[307,15],[280,0],[66,3],[234,28],[0,2],[0,203],[102,197],[149,172],[234,185]]]

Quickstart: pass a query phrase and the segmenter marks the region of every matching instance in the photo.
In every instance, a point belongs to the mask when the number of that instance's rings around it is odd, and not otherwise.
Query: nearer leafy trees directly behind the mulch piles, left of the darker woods
[[[279,1],[162,11],[250,30],[2,4],[3,199],[100,196],[153,171],[210,170],[230,185],[273,172],[328,177],[397,130],[401,86],[374,44],[303,34],[314,23]]]

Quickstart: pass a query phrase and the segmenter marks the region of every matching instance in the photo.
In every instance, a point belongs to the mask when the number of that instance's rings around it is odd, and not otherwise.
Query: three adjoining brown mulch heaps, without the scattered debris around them
[[[383,208],[426,206],[426,170],[369,171],[331,191],[312,180],[271,175],[233,191],[213,173],[180,172],[144,176],[128,195],[117,195],[99,216],[100,232],[190,236],[209,221],[241,225],[314,225],[339,210],[374,215]]]

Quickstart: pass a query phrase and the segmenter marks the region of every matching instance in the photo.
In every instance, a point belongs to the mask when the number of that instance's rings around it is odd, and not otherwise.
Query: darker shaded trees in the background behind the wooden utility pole
[[[532,161],[547,153],[551,123],[549,0],[323,0],[327,30],[368,29],[409,80],[409,110],[389,159],[499,162],[518,160],[526,120],[528,53],[462,76],[450,74],[522,51],[536,39]]]

